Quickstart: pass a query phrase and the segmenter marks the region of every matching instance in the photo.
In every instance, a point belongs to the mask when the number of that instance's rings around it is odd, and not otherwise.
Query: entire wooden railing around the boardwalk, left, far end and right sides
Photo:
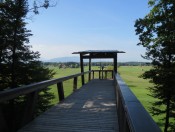
[[[33,119],[33,113],[39,91],[53,84],[57,84],[59,100],[62,101],[65,98],[63,90],[64,81],[73,79],[73,91],[75,91],[77,89],[77,81],[79,76],[82,77],[85,74],[89,74],[89,80],[91,80],[91,73],[93,74],[92,77],[94,79],[94,74],[96,72],[99,74],[99,79],[107,78],[108,73],[111,74],[111,78],[113,78],[114,75],[120,132],[160,131],[157,124],[153,121],[153,119],[150,117],[148,112],[144,109],[135,95],[130,91],[128,86],[123,82],[118,74],[113,74],[112,70],[92,70],[58,79],[52,79],[27,86],[22,86],[15,89],[5,90],[0,92],[0,103],[15,99],[21,95],[27,95],[28,101],[26,103],[26,108],[22,119],[22,124],[25,125],[31,121],[31,119]],[[7,125],[5,119],[3,118],[3,113],[0,106],[0,131],[7,130],[6,127]]]

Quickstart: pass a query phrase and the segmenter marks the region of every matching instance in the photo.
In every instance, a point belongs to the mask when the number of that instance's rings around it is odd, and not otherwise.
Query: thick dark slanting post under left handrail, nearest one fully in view
[[[38,91],[32,92],[27,95],[26,107],[24,110],[21,127],[34,119],[34,113],[37,101],[38,101]]]

